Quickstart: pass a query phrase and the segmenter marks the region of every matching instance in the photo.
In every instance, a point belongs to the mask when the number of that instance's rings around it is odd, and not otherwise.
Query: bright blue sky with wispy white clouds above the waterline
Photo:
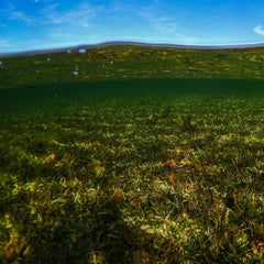
[[[0,53],[109,41],[264,42],[263,0],[0,0]]]

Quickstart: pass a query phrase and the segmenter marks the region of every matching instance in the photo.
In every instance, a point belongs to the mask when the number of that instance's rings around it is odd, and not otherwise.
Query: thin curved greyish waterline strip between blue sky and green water
[[[253,44],[232,44],[232,45],[179,45],[179,44],[169,44],[169,43],[145,43],[145,42],[102,42],[98,44],[84,44],[69,47],[58,47],[58,48],[47,48],[47,50],[35,50],[35,51],[25,51],[25,52],[11,52],[0,54],[0,58],[7,57],[24,57],[24,56],[34,56],[42,54],[53,54],[67,51],[78,51],[80,48],[96,48],[103,46],[113,46],[113,45],[130,45],[130,46],[150,46],[150,47],[173,47],[173,48],[183,48],[183,50],[239,50],[239,48],[252,48],[252,47],[264,47],[264,43],[253,43]]]

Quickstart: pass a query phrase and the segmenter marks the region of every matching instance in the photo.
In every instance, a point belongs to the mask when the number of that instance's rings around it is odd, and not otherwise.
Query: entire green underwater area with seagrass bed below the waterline
[[[0,61],[0,263],[264,263],[264,47]]]

